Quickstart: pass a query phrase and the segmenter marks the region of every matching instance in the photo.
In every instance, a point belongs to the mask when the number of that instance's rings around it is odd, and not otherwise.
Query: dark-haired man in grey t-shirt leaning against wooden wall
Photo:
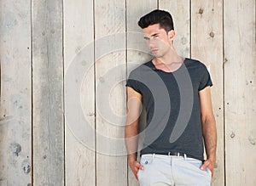
[[[217,132],[207,68],[177,54],[168,12],[156,9],[144,15],[138,25],[154,59],[132,70],[126,84],[125,144],[131,171],[141,186],[211,185]],[[147,121],[138,162],[141,103]]]

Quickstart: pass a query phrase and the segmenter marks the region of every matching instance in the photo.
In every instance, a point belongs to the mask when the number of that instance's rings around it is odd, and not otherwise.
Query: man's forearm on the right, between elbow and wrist
[[[202,120],[202,132],[205,141],[207,159],[215,163],[217,148],[217,129],[214,116]]]

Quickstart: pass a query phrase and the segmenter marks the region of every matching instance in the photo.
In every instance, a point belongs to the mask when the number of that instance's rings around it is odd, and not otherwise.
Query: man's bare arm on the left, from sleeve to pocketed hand
[[[127,106],[126,106],[126,123],[125,123],[125,145],[128,154],[128,163],[131,171],[137,178],[138,169],[143,166],[137,162],[137,143],[138,143],[138,119],[140,115],[140,106],[142,95],[137,93],[131,87],[127,87]]]

